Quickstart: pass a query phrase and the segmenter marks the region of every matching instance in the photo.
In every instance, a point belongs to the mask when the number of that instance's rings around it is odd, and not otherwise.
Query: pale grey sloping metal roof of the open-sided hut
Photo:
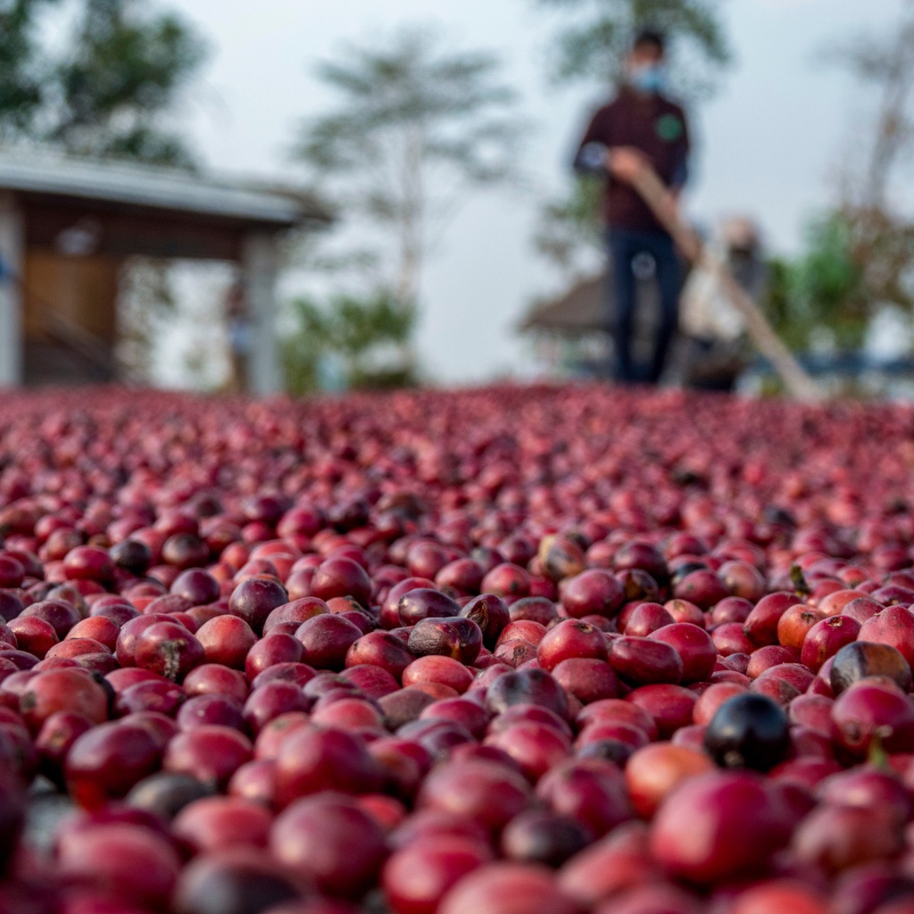
[[[34,150],[0,152],[2,190],[238,219],[274,228],[331,218],[314,197],[292,188]]]

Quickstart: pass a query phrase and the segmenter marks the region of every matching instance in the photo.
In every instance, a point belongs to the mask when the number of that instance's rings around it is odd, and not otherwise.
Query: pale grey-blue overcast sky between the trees
[[[746,213],[772,249],[795,250],[827,203],[835,172],[866,129],[866,96],[817,52],[886,27],[903,0],[725,0],[733,66],[717,97],[691,112],[698,138],[687,209],[705,224]],[[405,23],[437,24],[456,47],[499,52],[534,123],[526,170],[534,193],[476,197],[423,277],[420,356],[431,377],[475,381],[525,365],[514,326],[556,289],[530,238],[537,199],[563,186],[569,151],[600,101],[593,87],[546,78],[554,16],[533,0],[170,0],[207,37],[210,58],[188,101],[197,147],[229,172],[294,174],[297,123],[328,101],[314,64],[347,40]],[[286,283],[292,290],[300,278]]]

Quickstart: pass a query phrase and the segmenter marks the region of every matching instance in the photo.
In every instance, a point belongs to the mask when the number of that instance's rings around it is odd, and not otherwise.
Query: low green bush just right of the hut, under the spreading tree
[[[388,292],[365,298],[335,294],[326,303],[301,298],[292,303],[292,319],[294,329],[282,346],[290,393],[320,388],[322,360],[328,357],[342,363],[347,388],[415,383],[407,347],[416,312]]]

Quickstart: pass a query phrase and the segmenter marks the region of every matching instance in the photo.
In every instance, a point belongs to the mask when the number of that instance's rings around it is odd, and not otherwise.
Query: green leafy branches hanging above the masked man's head
[[[720,0],[535,0],[569,22],[559,32],[558,81],[619,80],[622,60],[639,28],[660,28],[681,46],[680,64],[694,90],[709,90],[729,59]]]

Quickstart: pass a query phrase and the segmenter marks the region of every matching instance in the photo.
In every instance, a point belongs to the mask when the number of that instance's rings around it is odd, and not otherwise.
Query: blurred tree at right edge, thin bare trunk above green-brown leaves
[[[870,129],[855,129],[837,200],[811,224],[805,249],[781,261],[771,317],[788,342],[856,349],[887,308],[914,324],[914,221],[892,188],[914,148],[914,0],[881,35],[861,35],[826,58],[874,96]]]

